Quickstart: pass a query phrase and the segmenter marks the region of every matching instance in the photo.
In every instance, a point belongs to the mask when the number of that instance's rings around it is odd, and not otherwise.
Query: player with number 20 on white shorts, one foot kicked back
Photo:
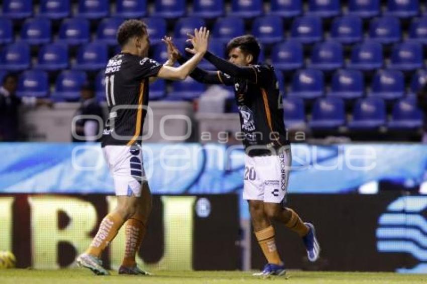
[[[186,59],[172,41],[167,42],[172,56],[185,64]],[[195,54],[189,48],[186,51]],[[227,54],[228,61],[206,52],[204,58],[218,71],[196,68],[190,76],[205,84],[234,86],[245,147],[243,198],[249,202],[255,235],[268,261],[264,270],[254,275],[283,275],[286,270],[276,249],[271,220],[282,223],[302,238],[310,261],[318,259],[320,247],[314,226],[302,222],[295,211],[283,206],[291,152],[280,107],[279,84],[273,66],[257,64],[260,45],[255,37],[234,38],[227,45]]]

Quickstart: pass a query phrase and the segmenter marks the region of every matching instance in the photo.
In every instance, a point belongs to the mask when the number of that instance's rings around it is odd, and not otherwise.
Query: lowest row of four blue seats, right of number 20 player
[[[306,123],[304,102],[300,98],[283,100],[284,121],[287,127]],[[311,111],[308,126],[312,129],[336,130],[341,126],[350,129],[370,130],[380,126],[392,129],[413,130],[422,126],[422,113],[417,108],[416,99],[408,97],[393,105],[391,119],[387,121],[385,103],[381,98],[359,99],[353,106],[352,119],[348,121],[342,99],[326,97],[317,99]]]

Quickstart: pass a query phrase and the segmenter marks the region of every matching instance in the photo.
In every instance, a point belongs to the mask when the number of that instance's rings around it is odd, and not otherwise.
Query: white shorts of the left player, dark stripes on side
[[[114,180],[117,196],[141,196],[141,185],[146,182],[142,149],[139,145],[108,145],[102,148]]]

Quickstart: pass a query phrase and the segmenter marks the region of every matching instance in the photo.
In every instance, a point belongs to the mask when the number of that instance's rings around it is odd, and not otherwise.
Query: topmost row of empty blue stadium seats
[[[118,17],[135,18],[148,14],[147,0],[116,0]],[[309,0],[305,14],[319,17],[334,17],[342,13],[342,2],[339,0]],[[190,15],[215,18],[225,14],[224,0],[193,0]],[[271,0],[271,14],[281,17],[295,17],[303,14],[302,0]],[[156,0],[153,16],[163,18],[178,18],[187,14],[186,0]],[[348,14],[359,17],[374,17],[380,14],[380,0],[348,1]],[[33,15],[31,0],[5,0],[2,7],[3,15],[13,19],[22,19]],[[264,14],[262,0],[231,0],[231,14],[244,18],[257,17]],[[388,0],[386,14],[408,18],[420,13],[418,0]],[[71,14],[69,0],[41,0],[39,15],[58,19]],[[88,19],[99,19],[110,15],[108,0],[79,0],[78,16]]]

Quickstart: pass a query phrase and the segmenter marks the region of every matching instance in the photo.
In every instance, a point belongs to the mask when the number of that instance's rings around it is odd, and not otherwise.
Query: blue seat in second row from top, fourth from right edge
[[[291,37],[303,44],[321,41],[323,38],[322,19],[314,16],[296,18],[292,22]]]

